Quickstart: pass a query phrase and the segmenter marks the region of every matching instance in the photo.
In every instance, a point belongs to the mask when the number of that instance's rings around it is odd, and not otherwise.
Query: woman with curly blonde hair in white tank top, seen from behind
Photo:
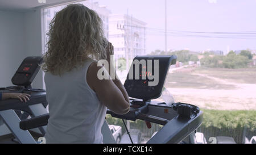
[[[121,81],[106,71],[113,66],[97,66],[102,59],[112,64],[113,46],[107,42],[105,48],[104,42],[102,20],[84,5],[68,5],[52,19],[43,64],[50,115],[46,143],[103,143],[106,109],[129,111]],[[100,80],[99,70],[109,79]]]

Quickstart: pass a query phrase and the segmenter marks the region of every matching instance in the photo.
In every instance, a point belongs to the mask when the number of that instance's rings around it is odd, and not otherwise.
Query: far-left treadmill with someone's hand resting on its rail
[[[40,70],[42,57],[26,57],[16,70],[11,82],[15,86],[1,87],[1,93],[27,93],[30,100],[26,103],[18,99],[0,100],[0,119],[13,133],[19,143],[36,143],[30,132],[19,128],[22,119],[34,118],[42,114],[47,114],[46,91],[42,89],[32,89],[31,83]],[[39,131],[44,134],[46,127],[39,127]]]

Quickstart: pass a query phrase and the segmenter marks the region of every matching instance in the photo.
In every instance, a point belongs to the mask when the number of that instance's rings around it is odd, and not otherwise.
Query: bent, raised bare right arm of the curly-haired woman
[[[110,67],[113,66],[110,63],[110,56],[114,54],[113,46],[111,43],[108,45],[106,50],[107,60],[109,61]],[[96,92],[98,99],[116,114],[126,114],[130,110],[129,96],[123,87],[121,81],[117,79],[99,79],[97,77],[98,70],[105,69],[109,66],[97,66],[97,62],[92,62],[87,71],[86,80],[88,85]],[[110,68],[109,68],[110,70]],[[105,72],[108,73],[105,69]]]

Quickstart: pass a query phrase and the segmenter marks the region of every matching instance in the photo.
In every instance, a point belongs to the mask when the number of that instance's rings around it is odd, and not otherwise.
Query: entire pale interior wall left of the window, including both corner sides
[[[41,12],[0,11],[0,87],[12,86],[11,78],[27,56],[41,56]],[[43,88],[42,71],[32,86]]]

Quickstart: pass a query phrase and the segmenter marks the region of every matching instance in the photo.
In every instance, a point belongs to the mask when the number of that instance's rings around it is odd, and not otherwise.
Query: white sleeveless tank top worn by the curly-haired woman
[[[93,60],[60,76],[46,73],[49,120],[46,143],[102,143],[106,106],[86,82]]]

